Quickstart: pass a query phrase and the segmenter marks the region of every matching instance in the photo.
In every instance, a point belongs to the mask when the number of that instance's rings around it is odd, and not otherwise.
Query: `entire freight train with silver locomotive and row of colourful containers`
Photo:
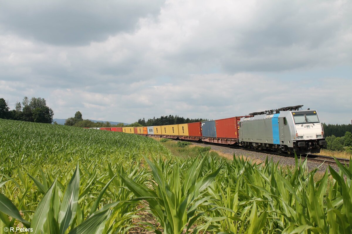
[[[195,123],[99,129],[245,148],[270,149],[288,154],[319,153],[320,149],[326,148],[323,126],[315,110],[302,110],[302,106],[283,107],[245,116]]]

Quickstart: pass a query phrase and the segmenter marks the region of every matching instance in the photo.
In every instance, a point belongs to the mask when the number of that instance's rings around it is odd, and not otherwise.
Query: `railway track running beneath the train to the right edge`
[[[174,139],[176,140],[176,139]],[[186,140],[183,140],[186,141]],[[195,142],[195,143],[203,143],[205,145],[216,145],[216,146],[222,146],[222,147],[228,147],[228,148],[233,148],[233,149],[243,149],[246,151],[252,151],[252,152],[258,152],[258,153],[266,153],[266,154],[272,154],[272,155],[277,155],[277,156],[284,156],[284,157],[291,157],[294,158],[294,155],[289,155],[289,154],[284,154],[284,153],[276,153],[272,151],[263,151],[263,150],[258,150],[258,149],[248,149],[244,147],[238,147],[238,146],[232,146],[232,145],[221,145],[221,144],[214,144],[214,143],[209,143],[209,142],[201,142],[201,141],[190,141],[190,142]],[[306,154],[306,155],[297,155],[298,157],[302,157],[302,159],[307,159],[308,161],[311,162],[318,162],[318,163],[325,163],[328,165],[337,165],[335,159],[333,157],[325,156],[325,155],[316,155],[316,154]],[[342,163],[342,165],[350,165],[350,160],[349,159],[342,159],[342,158],[336,158],[339,162]]]

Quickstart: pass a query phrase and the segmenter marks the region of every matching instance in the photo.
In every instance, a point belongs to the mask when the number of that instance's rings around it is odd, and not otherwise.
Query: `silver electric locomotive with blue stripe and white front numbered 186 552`
[[[319,153],[327,145],[323,126],[315,110],[303,111],[302,106],[256,112],[241,118],[240,145],[288,154]]]

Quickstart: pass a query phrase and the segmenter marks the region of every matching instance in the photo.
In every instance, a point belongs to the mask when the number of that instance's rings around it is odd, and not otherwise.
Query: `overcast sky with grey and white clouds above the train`
[[[0,3],[0,98],[54,118],[220,119],[284,106],[352,119],[352,1]]]

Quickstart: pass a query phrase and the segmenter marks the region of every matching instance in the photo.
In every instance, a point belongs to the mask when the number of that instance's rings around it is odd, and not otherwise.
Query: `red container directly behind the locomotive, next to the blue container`
[[[237,139],[241,117],[215,120],[216,138]]]

